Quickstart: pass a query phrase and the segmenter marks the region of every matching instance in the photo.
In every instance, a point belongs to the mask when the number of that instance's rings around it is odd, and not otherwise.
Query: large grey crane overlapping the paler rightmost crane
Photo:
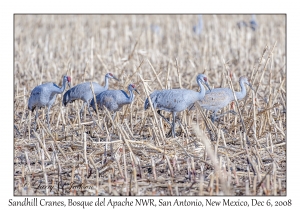
[[[204,74],[199,74],[196,78],[200,86],[200,92],[187,89],[169,89],[169,90],[156,90],[150,94],[152,105],[154,109],[158,109],[157,113],[172,126],[172,136],[175,137],[175,117],[177,112],[187,109],[196,101],[201,100],[205,95],[204,83],[210,89],[207,83],[207,77]],[[145,101],[144,108],[148,109],[150,106],[148,98]],[[172,112],[173,124],[171,124],[161,113],[161,110]]]

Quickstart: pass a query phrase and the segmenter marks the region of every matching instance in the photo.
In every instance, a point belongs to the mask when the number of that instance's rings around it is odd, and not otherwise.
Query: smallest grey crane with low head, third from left
[[[101,110],[105,106],[109,111],[116,112],[119,111],[124,105],[132,103],[134,100],[133,91],[136,91],[138,94],[139,91],[135,88],[134,84],[128,85],[129,96],[124,90],[107,90],[96,96],[97,106]],[[92,99],[90,106],[96,112],[95,101]],[[115,113],[114,113],[115,115]]]

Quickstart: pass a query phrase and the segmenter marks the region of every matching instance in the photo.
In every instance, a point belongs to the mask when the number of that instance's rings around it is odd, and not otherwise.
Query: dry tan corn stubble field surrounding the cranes
[[[256,15],[256,31],[237,27],[250,18],[203,15],[197,35],[197,15],[15,15],[14,194],[286,195],[285,15]],[[80,119],[82,101],[64,107],[58,95],[51,130],[40,109],[34,131],[35,86],[61,86],[63,75],[72,86],[104,85],[108,72],[120,80],[109,89],[134,83],[141,93],[113,122],[102,111],[94,124],[87,109]],[[181,112],[177,137],[166,137],[170,126],[144,110],[147,95],[199,91],[199,73],[235,91],[247,76],[254,91],[214,123],[198,105]]]

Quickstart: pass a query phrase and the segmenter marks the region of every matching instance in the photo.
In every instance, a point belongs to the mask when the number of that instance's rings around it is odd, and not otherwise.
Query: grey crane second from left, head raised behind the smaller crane
[[[115,79],[118,80],[112,73],[107,73],[105,75],[105,85],[104,87],[100,86],[98,83],[93,82],[93,88],[94,88],[94,93],[95,95],[100,94],[103,91],[106,91],[108,89],[108,79]],[[84,101],[84,103],[82,104],[82,107],[80,109],[80,116],[82,115],[82,111],[84,106],[87,104],[88,105],[88,111],[90,113],[90,115],[92,116],[92,113],[90,111],[90,103],[89,101],[93,98],[93,92],[91,90],[90,87],[90,82],[84,82],[84,83],[80,83],[74,87],[72,87],[71,89],[69,89],[63,97],[63,105],[66,106],[68,103],[72,103],[73,101],[80,99],[82,101]]]

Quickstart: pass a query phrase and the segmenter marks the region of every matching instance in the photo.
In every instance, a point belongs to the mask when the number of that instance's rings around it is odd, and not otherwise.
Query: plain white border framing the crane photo
[[[7,1],[8,2],[8,1]],[[298,102],[298,78],[300,76],[299,63],[299,11],[297,4],[288,1],[9,1],[1,2],[0,7],[0,75],[1,75],[1,184],[0,206],[7,207],[8,199],[22,200],[23,197],[13,196],[13,14],[14,13],[287,13],[287,76],[288,76],[288,111],[287,111],[287,197],[271,197],[275,200],[292,199],[291,209],[300,209],[299,202],[299,163],[298,150],[300,140],[297,132],[299,121]],[[296,2],[296,1],[294,1]],[[298,61],[298,62],[297,62]],[[297,109],[298,108],[298,109]],[[299,130],[299,129],[298,129]],[[41,198],[41,197],[39,197]],[[110,197],[112,198],[112,197]],[[148,198],[148,197],[139,197]],[[222,200],[222,197],[213,197],[214,200]],[[251,201],[252,197],[230,197],[232,200]],[[267,200],[269,197],[255,197]],[[49,198],[46,198],[49,199]],[[67,201],[68,198],[53,197],[51,200]],[[77,200],[95,200],[91,197],[80,197]],[[122,198],[123,199],[123,198]],[[134,198],[131,198],[134,199]],[[159,199],[156,197],[155,199]],[[175,200],[172,197],[164,197],[165,200]],[[195,200],[205,198],[188,197]],[[298,208],[297,208],[298,207]],[[131,209],[140,207],[131,207]],[[145,208],[145,207],[143,207]],[[146,207],[150,208],[150,207]],[[198,207],[199,208],[199,207]],[[208,207],[206,207],[208,208]],[[229,208],[229,207],[224,207]],[[71,209],[71,207],[69,207]],[[74,207],[72,207],[74,209]],[[79,208],[77,208],[79,209]]]

